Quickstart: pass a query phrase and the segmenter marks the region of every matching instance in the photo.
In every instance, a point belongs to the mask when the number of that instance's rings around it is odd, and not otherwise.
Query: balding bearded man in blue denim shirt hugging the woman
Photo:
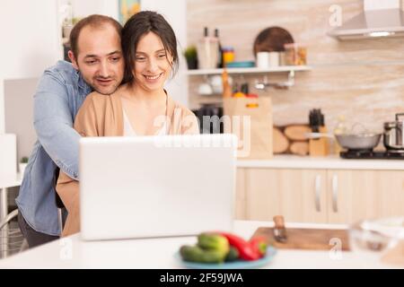
[[[110,95],[124,74],[120,44],[122,26],[110,17],[91,15],[70,34],[68,57],[44,72],[34,95],[38,136],[16,198],[19,224],[30,248],[58,239],[55,182],[60,168],[78,180],[80,135],[73,123],[91,91]]]

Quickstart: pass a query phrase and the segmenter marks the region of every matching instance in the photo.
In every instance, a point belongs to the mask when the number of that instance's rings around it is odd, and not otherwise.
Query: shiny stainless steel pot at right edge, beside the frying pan
[[[400,117],[404,113],[396,114],[395,122],[384,123],[383,144],[391,151],[404,151],[404,121]]]

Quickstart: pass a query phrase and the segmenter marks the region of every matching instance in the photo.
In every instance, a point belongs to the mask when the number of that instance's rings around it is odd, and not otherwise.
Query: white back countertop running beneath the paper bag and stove
[[[238,160],[238,168],[326,169],[326,170],[404,170],[404,160],[347,160],[337,155],[310,157],[275,155],[268,160]]]

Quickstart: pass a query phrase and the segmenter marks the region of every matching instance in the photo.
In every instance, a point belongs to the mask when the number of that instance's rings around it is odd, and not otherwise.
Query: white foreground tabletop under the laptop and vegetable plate
[[[270,222],[235,221],[234,232],[249,239]],[[288,223],[296,228],[346,228],[343,225]],[[32,248],[19,255],[0,260],[2,268],[181,268],[174,257],[183,244],[196,243],[195,237],[165,239],[127,239],[84,242],[80,234]],[[342,252],[335,258],[330,251],[278,249],[264,268],[391,268],[377,259]]]

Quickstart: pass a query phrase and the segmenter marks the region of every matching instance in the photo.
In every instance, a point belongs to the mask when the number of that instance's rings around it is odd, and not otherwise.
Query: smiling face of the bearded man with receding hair
[[[78,55],[75,57],[69,51],[69,57],[84,81],[101,94],[117,90],[125,65],[118,32],[110,24],[86,26],[80,32],[77,46]]]

